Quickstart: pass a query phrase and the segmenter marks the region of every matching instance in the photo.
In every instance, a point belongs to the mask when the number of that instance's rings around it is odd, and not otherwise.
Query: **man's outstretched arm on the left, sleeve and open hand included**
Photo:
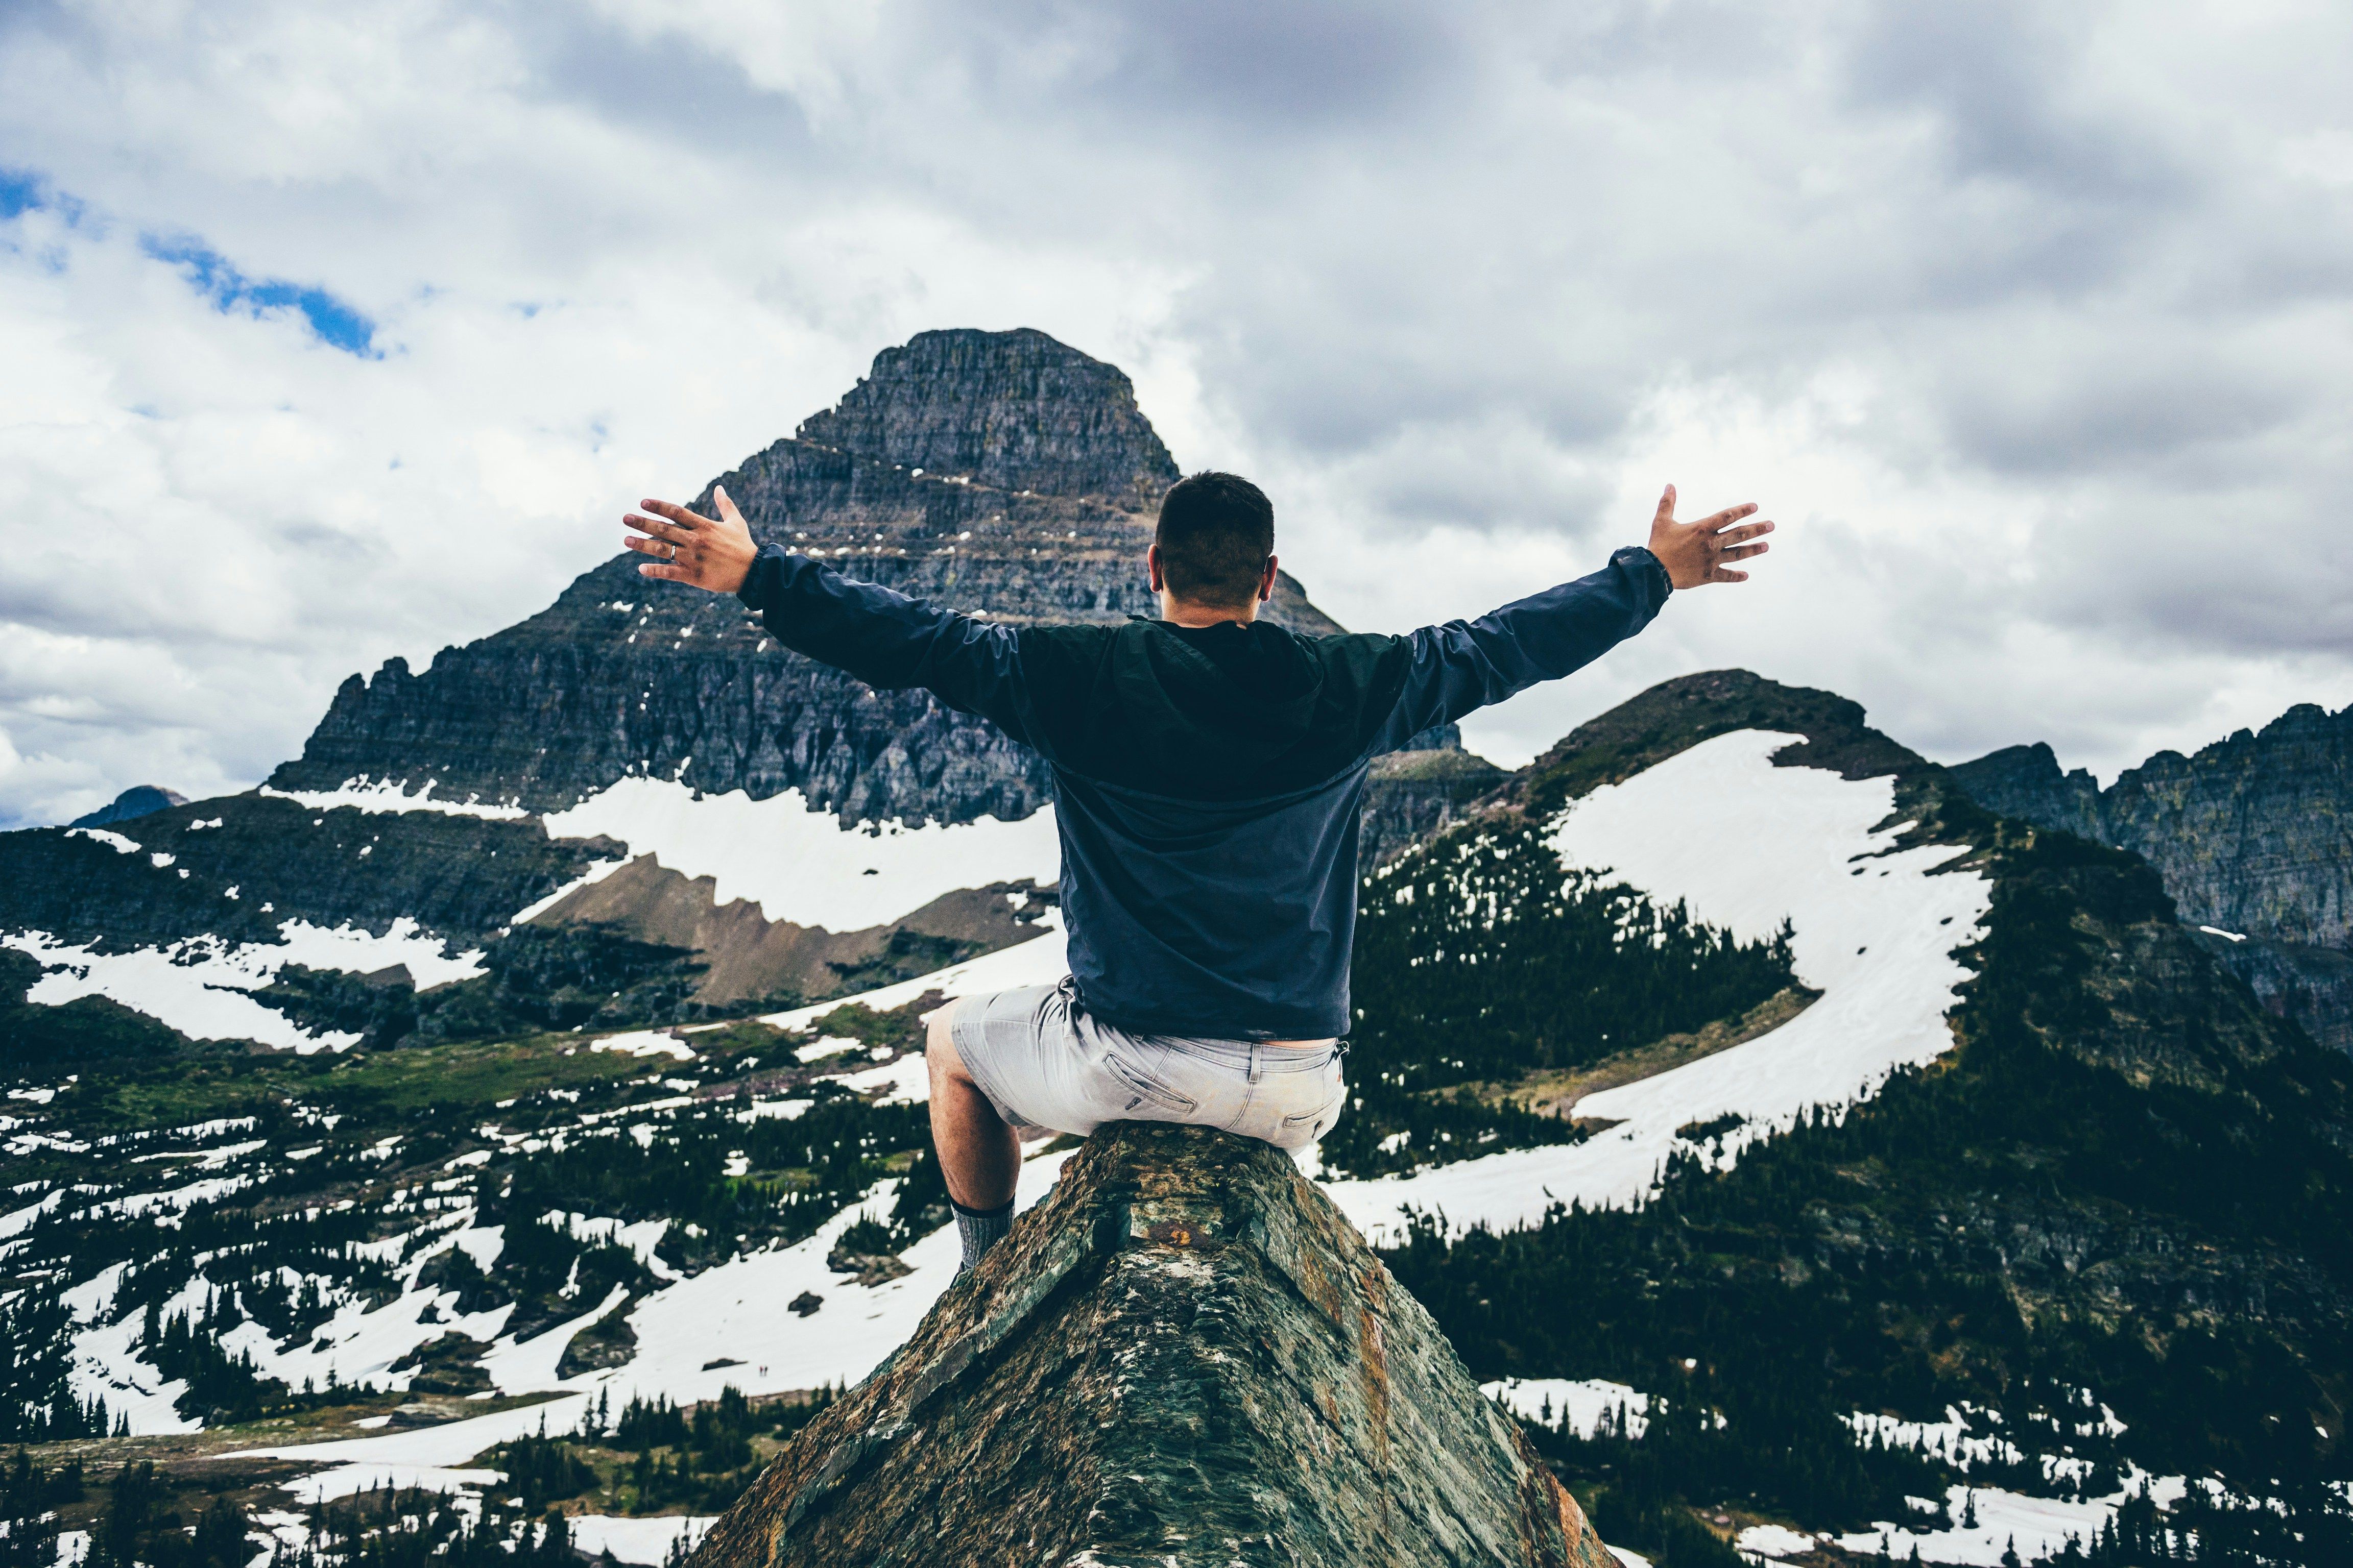
[[[708,592],[732,592],[776,642],[845,670],[868,686],[925,686],[962,712],[993,719],[1024,741],[1014,632],[911,599],[880,583],[856,583],[807,555],[753,543],[744,512],[725,489],[711,491],[718,517],[671,501],[645,501],[624,538],[652,559],[638,571]]]

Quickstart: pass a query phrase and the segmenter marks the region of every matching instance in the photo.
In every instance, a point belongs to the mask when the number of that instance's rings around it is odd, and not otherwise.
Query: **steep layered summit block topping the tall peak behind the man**
[[[1176,461],[1136,407],[1136,388],[1042,331],[918,331],[798,440],[1047,496],[1158,496]]]

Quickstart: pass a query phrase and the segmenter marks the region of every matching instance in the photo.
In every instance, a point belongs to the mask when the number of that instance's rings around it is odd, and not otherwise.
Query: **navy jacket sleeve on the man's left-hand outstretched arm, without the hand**
[[[922,686],[948,708],[1028,743],[1009,625],[845,578],[779,545],[762,545],[736,597],[795,654],[882,691]]]

